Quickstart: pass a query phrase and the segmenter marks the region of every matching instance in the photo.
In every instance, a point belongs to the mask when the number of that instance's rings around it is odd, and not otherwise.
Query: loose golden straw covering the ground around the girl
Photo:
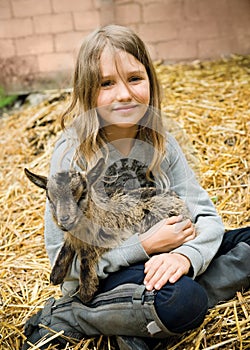
[[[157,63],[156,69],[163,86],[166,124],[180,140],[226,228],[249,225],[250,57]],[[44,193],[29,183],[23,168],[48,173],[60,134],[58,116],[68,95],[53,92],[35,107],[24,106],[1,117],[1,350],[19,349],[25,321],[50,296],[60,296],[59,288],[49,284]],[[157,349],[249,349],[249,302],[250,292],[239,291],[231,301],[210,310],[199,328],[162,342]],[[115,349],[112,337],[68,342],[67,349]]]

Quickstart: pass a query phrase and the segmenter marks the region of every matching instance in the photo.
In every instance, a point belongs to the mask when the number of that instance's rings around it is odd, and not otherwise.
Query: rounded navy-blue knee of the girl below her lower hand
[[[167,329],[183,333],[203,322],[208,310],[208,298],[197,282],[183,276],[174,284],[167,283],[157,293],[155,308]]]

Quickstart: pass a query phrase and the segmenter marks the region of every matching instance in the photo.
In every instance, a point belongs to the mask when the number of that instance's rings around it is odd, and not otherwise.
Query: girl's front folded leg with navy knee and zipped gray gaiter
[[[207,296],[198,283],[184,276],[158,292],[149,292],[142,284],[143,270],[141,264],[112,274],[88,304],[77,296],[51,298],[39,316],[26,323],[25,334],[32,341],[41,339],[48,333],[48,328],[39,326],[42,324],[57,332],[64,330],[66,336],[76,339],[122,335],[135,340],[127,347],[135,350],[143,348],[135,347],[138,338],[134,337],[166,338],[202,323]]]

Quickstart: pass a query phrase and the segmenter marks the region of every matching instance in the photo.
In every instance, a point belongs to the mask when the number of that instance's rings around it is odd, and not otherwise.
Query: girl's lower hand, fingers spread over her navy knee
[[[145,263],[144,284],[147,290],[161,289],[168,281],[175,283],[187,274],[191,263],[189,259],[178,253],[162,253],[154,255]]]

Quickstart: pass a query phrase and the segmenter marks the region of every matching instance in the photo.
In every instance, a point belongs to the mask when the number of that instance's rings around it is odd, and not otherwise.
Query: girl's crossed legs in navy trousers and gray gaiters
[[[250,228],[227,232],[216,259],[199,278],[210,307],[242,287],[249,288],[249,236]],[[183,276],[157,293],[147,292],[142,285],[143,270],[141,264],[110,275],[102,282],[100,294],[87,305],[76,296],[49,299],[44,309],[27,321],[25,335],[31,343],[38,341],[49,333],[48,328],[39,326],[43,324],[76,339],[99,334],[158,338],[201,324],[207,296],[199,284]],[[60,342],[65,345],[63,339]],[[47,347],[48,343],[40,348]],[[26,342],[23,349],[28,348]]]

